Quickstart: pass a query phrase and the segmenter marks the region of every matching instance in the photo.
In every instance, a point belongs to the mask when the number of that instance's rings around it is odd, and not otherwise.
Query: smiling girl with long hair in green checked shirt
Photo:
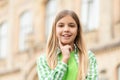
[[[37,60],[39,80],[97,80],[94,54],[87,51],[79,18],[63,10],[55,18],[46,54]]]

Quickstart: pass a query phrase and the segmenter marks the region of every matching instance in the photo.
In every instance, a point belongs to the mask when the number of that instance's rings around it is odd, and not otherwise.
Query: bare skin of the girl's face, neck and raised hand
[[[77,24],[75,20],[67,15],[56,24],[56,36],[59,40],[59,47],[62,51],[62,61],[67,63],[70,52],[74,50],[74,40],[77,36]]]

